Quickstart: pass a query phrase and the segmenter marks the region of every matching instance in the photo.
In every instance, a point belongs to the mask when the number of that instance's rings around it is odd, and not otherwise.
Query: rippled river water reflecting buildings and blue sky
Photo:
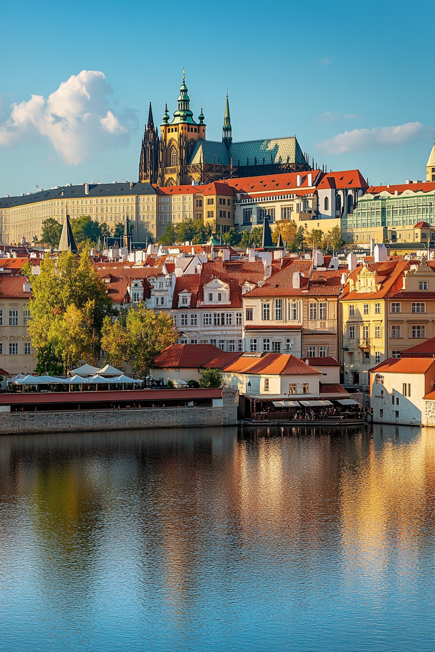
[[[2,652],[435,649],[432,429],[0,437]]]

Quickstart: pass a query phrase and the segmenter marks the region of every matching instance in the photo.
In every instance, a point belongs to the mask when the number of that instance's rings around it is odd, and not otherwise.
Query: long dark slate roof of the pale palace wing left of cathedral
[[[89,183],[89,192],[85,193],[85,184],[78,186],[57,186],[51,190],[39,190],[29,195],[20,197],[2,197],[0,198],[0,208],[10,208],[14,206],[23,206],[35,201],[48,201],[53,199],[75,199],[89,197],[110,197],[112,195],[155,195],[155,188],[151,183],[133,183],[130,188],[130,182],[125,183]]]

